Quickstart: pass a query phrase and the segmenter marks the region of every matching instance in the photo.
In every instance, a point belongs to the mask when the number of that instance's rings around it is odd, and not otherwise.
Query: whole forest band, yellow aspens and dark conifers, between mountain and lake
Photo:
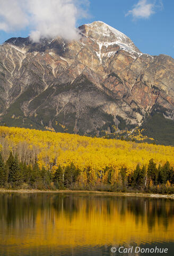
[[[0,127],[0,187],[174,193],[173,147]]]

